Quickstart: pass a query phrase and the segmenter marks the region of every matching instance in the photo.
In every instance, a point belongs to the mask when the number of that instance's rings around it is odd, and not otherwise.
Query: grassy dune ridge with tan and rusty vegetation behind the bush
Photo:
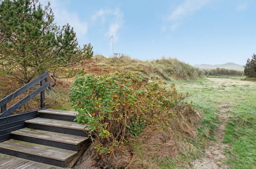
[[[152,61],[132,59],[129,56],[104,57],[93,56],[82,62],[77,68],[85,68],[88,74],[106,74],[114,72],[134,72],[151,79],[196,79],[201,71],[175,58],[162,58]]]

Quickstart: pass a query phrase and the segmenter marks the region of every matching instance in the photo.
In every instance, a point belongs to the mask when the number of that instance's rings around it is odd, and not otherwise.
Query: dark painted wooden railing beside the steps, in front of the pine
[[[49,72],[45,72],[44,74],[36,77],[33,81],[30,81],[22,88],[18,89],[17,91],[13,92],[9,96],[5,97],[4,99],[0,100],[0,107],[1,107],[1,114],[0,117],[6,117],[9,116],[11,113],[16,111],[18,108],[22,107],[26,102],[28,102],[30,99],[35,97],[37,94],[41,93],[41,108],[45,107],[44,99],[45,99],[45,89],[49,87],[49,81],[45,81],[45,78],[49,76]],[[10,108],[7,109],[7,103],[16,98],[17,96],[23,94],[28,89],[35,86],[37,83],[40,82],[40,87],[35,89],[33,92],[28,94],[23,99],[19,100],[17,103],[13,104]]]

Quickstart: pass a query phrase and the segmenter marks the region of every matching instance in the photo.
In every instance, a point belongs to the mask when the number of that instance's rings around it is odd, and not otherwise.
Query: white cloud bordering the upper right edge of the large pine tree
[[[40,3],[43,5],[46,5],[48,2],[49,0],[40,0]],[[78,41],[84,44],[85,36],[88,31],[88,24],[86,20],[81,19],[78,13],[68,11],[66,9],[66,6],[68,6],[67,1],[51,0],[50,4],[54,14],[54,22],[58,26],[69,24],[74,28]]]

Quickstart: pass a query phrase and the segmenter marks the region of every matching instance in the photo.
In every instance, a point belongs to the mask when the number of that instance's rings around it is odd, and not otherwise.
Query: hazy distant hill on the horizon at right
[[[222,65],[208,65],[208,64],[201,64],[201,65],[194,65],[194,67],[198,67],[204,70],[210,70],[215,68],[225,68],[225,69],[233,69],[233,70],[244,70],[243,65],[238,65],[232,62],[227,62],[226,64]]]

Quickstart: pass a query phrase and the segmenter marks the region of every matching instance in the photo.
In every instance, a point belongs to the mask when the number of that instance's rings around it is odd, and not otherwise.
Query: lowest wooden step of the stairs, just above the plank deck
[[[72,157],[77,154],[77,152],[70,150],[64,150],[52,146],[34,144],[13,139],[1,142],[0,151],[2,154],[25,158],[37,162],[43,162],[60,167],[69,166]]]

